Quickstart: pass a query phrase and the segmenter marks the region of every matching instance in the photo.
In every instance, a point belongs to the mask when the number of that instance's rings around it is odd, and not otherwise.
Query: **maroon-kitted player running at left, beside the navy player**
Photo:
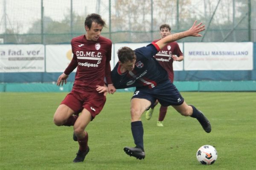
[[[57,80],[57,85],[66,84],[68,75],[77,67],[72,91],[58,106],[53,118],[57,126],[74,126],[74,140],[78,141],[79,150],[73,162],[84,161],[89,152],[85,127],[105,104],[103,90],[111,94],[116,91],[111,80],[112,42],[100,36],[105,21],[98,14],[89,14],[84,26],[86,34],[71,40],[73,59]],[[108,87],[104,87],[104,78]]]

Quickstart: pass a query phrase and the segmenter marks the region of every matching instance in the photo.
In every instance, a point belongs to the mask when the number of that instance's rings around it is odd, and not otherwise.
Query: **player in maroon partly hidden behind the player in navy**
[[[171,34],[171,27],[168,24],[163,24],[160,26],[160,35],[161,39]],[[160,40],[160,39],[159,39]],[[153,42],[157,42],[159,40],[154,40]],[[173,61],[182,61],[183,54],[180,51],[180,47],[177,42],[169,42],[164,46],[156,55],[154,55],[155,59],[159,62],[159,64],[167,71],[170,81],[173,83],[174,73],[172,63]],[[146,119],[151,119],[151,116],[154,111],[154,107],[157,105],[158,100],[154,103],[154,105],[149,108],[146,112]],[[163,119],[166,116],[167,112],[166,106],[161,105],[159,110],[159,116],[157,121],[157,126],[163,126]]]

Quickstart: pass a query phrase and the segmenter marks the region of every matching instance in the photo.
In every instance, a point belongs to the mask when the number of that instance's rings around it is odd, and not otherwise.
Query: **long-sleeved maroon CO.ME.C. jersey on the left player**
[[[104,85],[105,77],[107,83],[112,84],[111,40],[100,36],[97,41],[92,41],[81,35],[71,40],[71,46],[73,58],[64,74],[70,74],[77,67],[74,91],[96,91],[96,85]]]

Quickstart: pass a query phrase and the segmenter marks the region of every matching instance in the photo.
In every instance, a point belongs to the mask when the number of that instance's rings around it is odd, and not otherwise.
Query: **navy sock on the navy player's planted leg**
[[[134,138],[136,147],[140,147],[144,151],[143,146],[143,125],[141,121],[131,122],[131,133]]]

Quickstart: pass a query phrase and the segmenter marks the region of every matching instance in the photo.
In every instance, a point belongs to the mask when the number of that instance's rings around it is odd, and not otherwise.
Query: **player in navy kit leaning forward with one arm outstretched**
[[[113,84],[117,89],[136,87],[131,98],[131,132],[136,147],[124,148],[129,156],[145,158],[144,131],[140,117],[156,100],[166,107],[172,105],[183,116],[196,118],[207,133],[211,131],[208,119],[194,106],[186,104],[175,85],[169,80],[166,70],[153,57],[169,42],[189,36],[200,37],[201,34],[198,33],[205,29],[201,24],[196,25],[195,21],[187,31],[171,34],[134,51],[128,47],[118,50],[119,62],[111,71]]]

